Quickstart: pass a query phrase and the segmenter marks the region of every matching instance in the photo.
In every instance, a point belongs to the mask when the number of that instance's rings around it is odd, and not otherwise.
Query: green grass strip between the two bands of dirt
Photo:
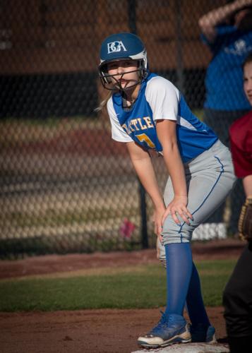
[[[235,260],[203,261],[200,272],[205,305],[222,305],[222,292]],[[0,311],[140,309],[165,305],[165,270],[160,264],[101,269],[0,281]]]

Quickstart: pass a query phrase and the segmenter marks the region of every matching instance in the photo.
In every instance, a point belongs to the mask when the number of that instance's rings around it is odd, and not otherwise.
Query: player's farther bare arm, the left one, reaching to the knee
[[[162,216],[165,211],[164,201],[160,193],[159,186],[157,184],[157,178],[155,171],[152,166],[150,155],[147,151],[143,150],[135,142],[126,143],[131,162],[133,167],[138,174],[138,178],[145,191],[149,194],[152,199],[152,203],[155,208],[154,212],[154,223],[155,223],[155,234],[160,236],[162,232]]]

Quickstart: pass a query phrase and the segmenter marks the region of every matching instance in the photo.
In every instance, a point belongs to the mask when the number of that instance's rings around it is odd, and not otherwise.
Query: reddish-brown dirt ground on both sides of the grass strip
[[[195,261],[238,258],[244,243],[238,239],[194,242]],[[154,249],[133,252],[39,256],[0,261],[0,279],[68,272],[99,267],[119,267],[157,262]],[[223,308],[207,308],[217,330],[217,340],[227,342]],[[1,353],[128,353],[139,349],[138,335],[160,319],[157,309],[83,310],[52,313],[0,313]],[[143,349],[143,352],[145,350]]]

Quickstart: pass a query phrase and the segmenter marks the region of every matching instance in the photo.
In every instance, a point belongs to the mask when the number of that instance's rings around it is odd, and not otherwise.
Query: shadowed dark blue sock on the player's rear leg
[[[200,277],[194,263],[186,297],[186,306],[189,318],[193,325],[196,325],[197,323],[203,323],[203,325],[208,326],[210,325],[201,294]]]

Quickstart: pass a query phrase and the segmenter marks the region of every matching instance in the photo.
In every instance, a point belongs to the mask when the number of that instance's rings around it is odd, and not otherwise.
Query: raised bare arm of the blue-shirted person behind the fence
[[[217,35],[215,27],[230,18],[236,11],[248,5],[251,5],[251,0],[236,0],[230,4],[213,9],[198,20],[200,30],[209,42],[213,42]]]

